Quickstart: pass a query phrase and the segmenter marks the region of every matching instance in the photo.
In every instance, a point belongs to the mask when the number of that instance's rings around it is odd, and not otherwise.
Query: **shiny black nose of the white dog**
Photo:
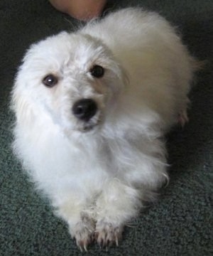
[[[75,117],[86,122],[94,117],[94,114],[96,114],[96,112],[97,104],[96,102],[94,102],[94,100],[91,99],[78,100],[72,106],[72,113],[75,115]]]

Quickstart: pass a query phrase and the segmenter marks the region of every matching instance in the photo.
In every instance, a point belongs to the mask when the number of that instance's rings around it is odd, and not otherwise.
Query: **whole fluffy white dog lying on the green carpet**
[[[118,244],[168,180],[163,135],[187,121],[194,70],[169,23],[141,9],[26,53],[12,92],[15,151],[81,249]]]

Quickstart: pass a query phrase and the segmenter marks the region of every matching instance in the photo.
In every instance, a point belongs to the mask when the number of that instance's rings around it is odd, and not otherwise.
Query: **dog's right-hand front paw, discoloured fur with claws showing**
[[[109,247],[114,243],[119,246],[119,240],[121,240],[124,226],[114,225],[101,221],[97,223],[95,230],[95,238],[100,247]]]

